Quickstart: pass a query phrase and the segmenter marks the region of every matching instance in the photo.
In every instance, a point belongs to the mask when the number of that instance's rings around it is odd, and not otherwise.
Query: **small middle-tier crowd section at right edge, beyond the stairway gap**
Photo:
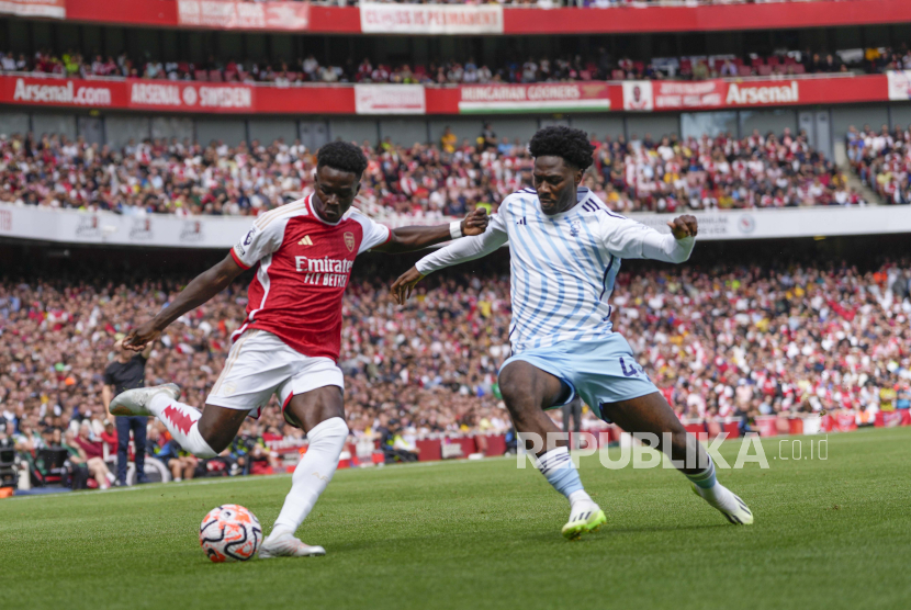
[[[887,203],[911,203],[910,129],[911,125],[907,129],[896,125],[891,131],[888,125],[882,125],[878,132],[869,125],[864,125],[862,131],[852,126],[845,136],[852,167]]]

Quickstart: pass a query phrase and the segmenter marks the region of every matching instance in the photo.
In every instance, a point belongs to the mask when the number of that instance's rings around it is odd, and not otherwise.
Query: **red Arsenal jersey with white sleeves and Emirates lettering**
[[[336,224],[311,207],[313,195],[259,216],[230,256],[244,269],[258,266],[250,282],[248,328],[267,330],[312,358],[338,361],[341,295],[355,258],[392,238],[392,231],[351,208]]]

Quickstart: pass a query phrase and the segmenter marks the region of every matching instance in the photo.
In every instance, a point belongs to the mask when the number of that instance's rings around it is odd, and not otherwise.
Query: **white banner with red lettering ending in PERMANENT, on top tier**
[[[385,4],[361,2],[367,34],[503,34],[499,4]]]

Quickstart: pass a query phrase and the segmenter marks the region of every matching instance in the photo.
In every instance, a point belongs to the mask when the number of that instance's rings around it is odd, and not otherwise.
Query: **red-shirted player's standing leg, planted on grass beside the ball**
[[[307,434],[307,451],[291,477],[291,492],[284,499],[272,532],[262,542],[259,556],[302,557],[325,555],[322,546],[304,544],[294,536],[319,495],[333,479],[338,459],[348,438],[341,388],[335,385],[318,387],[291,398],[284,409],[285,418]]]

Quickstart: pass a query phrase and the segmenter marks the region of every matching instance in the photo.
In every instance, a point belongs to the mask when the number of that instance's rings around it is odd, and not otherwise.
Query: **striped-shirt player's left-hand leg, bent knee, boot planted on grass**
[[[537,453],[538,470],[570,500],[570,520],[563,526],[563,535],[576,540],[585,532],[597,530],[606,521],[604,511],[585,493],[566,441],[558,440],[560,429],[543,410],[571,389],[554,375],[515,360],[501,371],[499,391],[516,430],[537,434],[543,441]]]

